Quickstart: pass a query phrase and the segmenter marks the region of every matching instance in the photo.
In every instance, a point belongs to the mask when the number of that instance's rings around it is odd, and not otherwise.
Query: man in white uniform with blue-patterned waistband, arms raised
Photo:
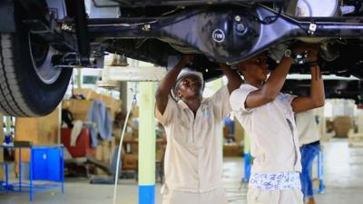
[[[294,97],[280,92],[291,64],[307,51],[311,72],[310,94]],[[294,112],[324,104],[324,85],[317,62],[318,48],[299,44],[286,50],[273,73],[268,56],[257,56],[238,64],[244,82],[231,93],[231,108],[251,139],[251,169],[248,204],[302,204],[298,132]]]

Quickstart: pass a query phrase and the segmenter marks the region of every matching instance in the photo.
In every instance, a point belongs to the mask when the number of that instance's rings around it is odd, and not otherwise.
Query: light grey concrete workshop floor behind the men
[[[348,148],[348,141],[334,139],[324,144],[326,190],[316,195],[318,204],[363,204],[363,148]],[[247,184],[241,183],[243,160],[227,158],[224,161],[223,181],[229,203],[245,204]],[[118,204],[136,204],[137,186],[134,180],[121,180]],[[160,184],[157,184],[156,202],[161,203]],[[0,192],[1,204],[29,203],[28,194]],[[91,185],[88,180],[67,180],[65,194],[51,189],[34,195],[39,204],[106,204],[113,203],[113,186]]]

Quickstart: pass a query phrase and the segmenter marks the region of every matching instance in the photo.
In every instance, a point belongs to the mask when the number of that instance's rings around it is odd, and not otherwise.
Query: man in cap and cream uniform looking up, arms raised
[[[168,141],[162,204],[226,204],[221,124],[231,112],[230,93],[240,87],[240,75],[221,63],[228,84],[203,99],[202,74],[184,68],[190,62],[191,56],[186,56],[173,67],[156,92],[155,115]]]

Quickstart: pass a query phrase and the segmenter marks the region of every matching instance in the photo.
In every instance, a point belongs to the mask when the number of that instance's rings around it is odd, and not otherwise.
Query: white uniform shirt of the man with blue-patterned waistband
[[[258,88],[242,84],[230,99],[234,115],[250,135],[252,172],[301,171],[298,132],[290,104],[294,97],[279,93],[272,102],[246,109],[246,98],[255,90]]]

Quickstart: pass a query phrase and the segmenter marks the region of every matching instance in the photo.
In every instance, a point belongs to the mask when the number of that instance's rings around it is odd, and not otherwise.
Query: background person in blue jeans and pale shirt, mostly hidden
[[[314,192],[312,189],[311,170],[312,162],[320,151],[320,137],[317,121],[313,110],[299,112],[296,114],[296,126],[299,132],[299,146],[301,152],[300,174],[301,189],[304,200],[308,204],[315,204]]]

